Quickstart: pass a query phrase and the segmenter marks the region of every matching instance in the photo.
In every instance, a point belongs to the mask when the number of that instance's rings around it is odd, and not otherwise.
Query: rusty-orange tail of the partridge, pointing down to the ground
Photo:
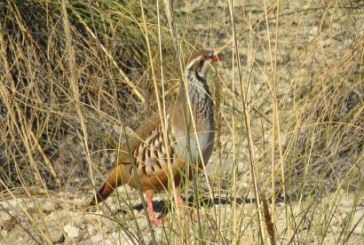
[[[95,206],[96,203],[103,202],[118,186],[123,184],[122,181],[122,168],[120,165],[115,166],[105,183],[97,191],[96,196],[90,201],[89,206]]]

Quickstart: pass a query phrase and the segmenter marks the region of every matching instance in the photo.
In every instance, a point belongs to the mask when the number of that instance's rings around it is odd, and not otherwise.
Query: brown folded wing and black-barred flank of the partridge
[[[159,114],[156,114],[147,119],[132,138],[129,138],[129,148],[134,158],[133,164],[135,164],[135,166],[131,164],[124,166],[124,180],[129,185],[137,187],[137,177],[143,190],[162,190],[167,186],[170,173],[179,179],[178,173],[182,170],[184,161],[178,159],[175,154],[176,140],[170,125],[171,113],[173,112],[169,110],[167,114],[166,135],[163,133]],[[167,144],[165,144],[165,136],[167,136]]]

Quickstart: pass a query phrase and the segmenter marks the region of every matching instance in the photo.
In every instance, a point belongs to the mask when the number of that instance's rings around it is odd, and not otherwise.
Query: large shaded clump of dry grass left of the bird
[[[61,4],[26,0],[1,5],[0,190],[4,185],[54,188],[72,171],[73,177],[87,176],[80,155],[85,152],[76,147],[80,124]],[[152,88],[140,7],[128,1],[70,1],[66,9],[87,144],[92,151],[115,147],[118,137],[111,125],[136,127],[139,120],[130,115],[149,109],[143,104]],[[153,10],[145,12],[146,21],[155,23]],[[157,27],[148,28],[151,45],[157,45]],[[162,35],[168,40],[166,31]],[[168,43],[163,46],[167,57]]]

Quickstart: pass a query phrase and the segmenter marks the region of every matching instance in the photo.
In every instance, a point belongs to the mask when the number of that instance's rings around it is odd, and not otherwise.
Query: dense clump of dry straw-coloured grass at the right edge
[[[291,192],[363,188],[363,45],[362,38],[355,39],[317,80],[296,89],[296,109],[287,117]]]

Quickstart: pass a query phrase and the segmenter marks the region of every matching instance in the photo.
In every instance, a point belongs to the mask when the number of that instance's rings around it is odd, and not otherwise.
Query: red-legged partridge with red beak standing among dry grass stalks
[[[135,189],[140,188],[145,194],[149,219],[152,224],[158,225],[162,221],[155,218],[153,196],[168,190],[171,181],[176,187],[177,203],[183,205],[180,184],[186,176],[192,178],[193,163],[199,166],[199,170],[203,169],[213,152],[214,106],[207,74],[212,63],[217,61],[220,58],[213,53],[199,53],[189,60],[183,74],[188,96],[180,89],[163,121],[156,113],[144,120],[135,134],[128,137],[127,144],[119,150],[114,167],[89,207],[104,201],[117,187],[128,184]],[[186,99],[191,110],[186,107]]]

